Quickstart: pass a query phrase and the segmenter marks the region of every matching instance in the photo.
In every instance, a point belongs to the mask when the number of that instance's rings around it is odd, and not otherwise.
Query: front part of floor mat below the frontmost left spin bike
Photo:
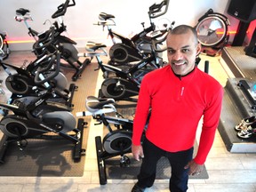
[[[60,139],[28,140],[28,146],[23,150],[16,143],[10,143],[4,164],[0,165],[0,176],[81,177],[85,156],[75,163],[73,148],[71,141]]]

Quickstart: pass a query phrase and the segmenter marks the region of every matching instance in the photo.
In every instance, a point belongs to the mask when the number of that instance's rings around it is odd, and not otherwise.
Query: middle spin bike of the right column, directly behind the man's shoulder
[[[151,38],[153,47],[157,47],[157,44],[162,44],[167,36],[168,30],[164,30],[160,36],[155,36]],[[163,37],[164,36],[164,37]],[[161,37],[161,39],[159,39]],[[157,39],[158,38],[158,39]],[[104,64],[100,59],[100,56],[107,55],[104,50],[106,45],[104,44],[94,44],[91,43],[90,46],[86,46],[88,52],[80,53],[79,56],[84,57],[95,57],[98,61],[99,68],[103,72],[103,77],[105,80],[101,84],[99,91],[100,98],[113,98],[114,100],[126,100],[137,102],[134,96],[138,96],[140,91],[140,83],[148,72],[155,70],[156,68],[162,68],[164,62],[162,58],[156,55],[156,50],[152,49],[152,52],[148,57],[132,62],[132,65],[119,66],[118,68],[109,64]],[[157,50],[157,52],[164,52],[165,48],[162,50]],[[130,63],[131,64],[131,63]],[[109,76],[111,74],[111,76]]]

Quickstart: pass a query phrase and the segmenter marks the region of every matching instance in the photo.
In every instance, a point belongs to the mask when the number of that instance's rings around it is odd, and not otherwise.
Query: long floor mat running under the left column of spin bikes
[[[16,63],[15,55],[19,56],[19,53],[13,52],[13,57],[9,59],[10,62],[14,60],[13,63]],[[32,60],[33,55],[27,54]],[[73,68],[61,68],[68,83],[74,83],[77,86],[72,101],[74,104],[72,113],[75,117],[76,112],[84,111],[86,97],[94,95],[98,78],[98,71],[94,71],[95,68],[97,66],[94,63],[89,64],[76,82],[70,81],[75,72]],[[6,102],[8,96],[6,94],[5,100],[3,97],[1,101]],[[77,117],[76,120],[78,120]],[[84,122],[87,122],[87,127],[89,127],[91,117],[84,117]],[[89,129],[84,128],[84,149],[87,148],[88,132]],[[22,151],[19,150],[16,143],[12,143],[4,156],[4,164],[0,164],[0,176],[81,177],[84,174],[85,156],[82,156],[79,163],[75,163],[72,159],[72,150],[73,143],[69,140],[28,140],[28,146]]]

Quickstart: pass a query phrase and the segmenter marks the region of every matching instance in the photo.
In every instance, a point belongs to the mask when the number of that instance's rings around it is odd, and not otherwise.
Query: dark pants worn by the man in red
[[[165,156],[168,158],[171,167],[171,178],[169,188],[172,192],[185,192],[188,190],[188,169],[184,166],[188,164],[193,157],[194,148],[189,148],[185,151],[175,153],[164,151],[157,148],[149,140],[143,141],[144,158],[138,175],[138,185],[141,188],[150,188],[156,179],[156,164],[157,161]]]

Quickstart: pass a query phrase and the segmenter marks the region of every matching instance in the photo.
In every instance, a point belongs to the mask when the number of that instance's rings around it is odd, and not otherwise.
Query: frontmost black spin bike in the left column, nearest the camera
[[[60,65],[60,52],[57,53],[56,60]],[[44,76],[44,71],[48,68],[45,66],[38,69],[35,76],[37,84],[44,84],[52,78]],[[59,69],[57,67],[52,76],[58,75]],[[28,145],[29,139],[57,140],[59,138],[74,143],[73,159],[80,161],[84,153],[82,148],[84,120],[79,119],[76,128],[76,118],[66,105],[48,101],[52,93],[52,89],[48,89],[37,97],[22,97],[13,100],[12,104],[0,103],[0,108],[9,112],[0,121],[0,129],[4,132],[0,141],[0,163],[4,163],[4,155],[11,142],[16,142],[22,151]],[[68,132],[74,132],[74,134]]]

